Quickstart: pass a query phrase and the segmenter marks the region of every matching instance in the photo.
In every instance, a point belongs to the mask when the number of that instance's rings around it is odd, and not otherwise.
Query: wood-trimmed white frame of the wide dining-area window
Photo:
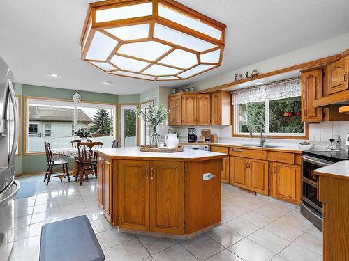
[[[28,105],[29,105],[29,101],[31,100],[35,100],[38,101],[39,103],[45,103],[45,102],[54,102],[54,104],[57,104],[58,106],[64,106],[65,104],[68,104],[68,106],[73,106],[75,113],[74,113],[74,120],[73,120],[73,126],[75,128],[75,132],[77,131],[77,107],[82,105],[82,104],[95,104],[96,106],[113,106],[114,108],[114,118],[113,118],[113,128],[114,128],[114,132],[113,132],[113,139],[116,138],[117,136],[117,103],[112,103],[112,102],[91,102],[91,101],[81,101],[79,103],[75,103],[72,100],[66,100],[66,99],[57,99],[57,98],[50,98],[50,97],[34,97],[34,96],[23,96],[23,104],[24,104],[24,111],[23,111],[23,116],[24,116],[24,121],[23,121],[23,125],[24,125],[24,136],[23,136],[23,155],[45,155],[45,151],[43,152],[29,152],[28,151],[28,143],[27,143],[27,138],[29,135],[29,117],[28,117]],[[59,104],[59,103],[64,103]],[[38,126],[39,127],[39,126]],[[44,127],[45,128],[45,127]],[[44,134],[43,134],[44,135]]]

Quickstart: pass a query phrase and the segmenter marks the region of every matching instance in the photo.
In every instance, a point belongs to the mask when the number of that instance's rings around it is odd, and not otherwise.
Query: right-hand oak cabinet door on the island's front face
[[[150,164],[150,230],[184,232],[184,163]]]

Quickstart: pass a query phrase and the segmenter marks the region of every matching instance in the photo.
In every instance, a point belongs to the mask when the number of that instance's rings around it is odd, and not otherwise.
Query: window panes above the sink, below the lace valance
[[[284,116],[301,111],[301,97],[265,102],[249,102],[235,106],[235,134],[263,133],[272,136],[304,136],[305,125],[300,116]]]

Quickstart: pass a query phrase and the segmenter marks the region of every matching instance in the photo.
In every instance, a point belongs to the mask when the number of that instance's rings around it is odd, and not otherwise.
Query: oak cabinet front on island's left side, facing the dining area
[[[113,168],[111,161],[98,157],[97,162],[97,201],[108,221],[113,219]]]

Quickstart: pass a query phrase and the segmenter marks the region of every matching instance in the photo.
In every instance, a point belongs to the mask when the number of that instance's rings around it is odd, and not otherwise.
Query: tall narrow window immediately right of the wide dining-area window
[[[137,146],[137,116],[135,109],[138,104],[120,104],[120,144],[121,147]]]

